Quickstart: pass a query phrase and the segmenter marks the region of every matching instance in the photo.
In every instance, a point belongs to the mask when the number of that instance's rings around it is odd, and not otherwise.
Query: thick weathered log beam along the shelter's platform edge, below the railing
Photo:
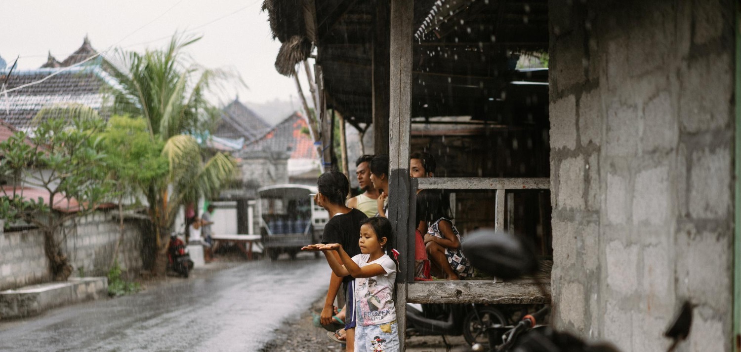
[[[551,285],[549,283],[538,285],[532,280],[414,282],[407,285],[406,298],[407,302],[411,303],[549,303]]]

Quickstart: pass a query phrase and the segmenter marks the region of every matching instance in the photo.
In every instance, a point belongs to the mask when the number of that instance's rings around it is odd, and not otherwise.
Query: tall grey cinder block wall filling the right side
[[[734,4],[548,1],[559,327],[622,351],[731,351]]]

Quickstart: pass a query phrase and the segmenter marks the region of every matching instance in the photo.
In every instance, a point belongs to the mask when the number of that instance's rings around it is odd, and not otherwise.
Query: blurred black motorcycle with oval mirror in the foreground
[[[534,274],[538,269],[534,251],[522,237],[493,230],[479,230],[471,234],[462,247],[473,267],[495,277],[514,279]],[[674,351],[679,342],[689,335],[692,309],[693,305],[685,302],[665,332],[665,337],[674,339],[668,352]],[[513,328],[496,325],[485,327],[489,347],[476,343],[473,351],[619,352],[609,343],[585,342],[578,336],[556,331],[551,326],[537,326],[546,321],[545,317],[550,311],[551,307],[546,306],[533,314],[525,315]]]

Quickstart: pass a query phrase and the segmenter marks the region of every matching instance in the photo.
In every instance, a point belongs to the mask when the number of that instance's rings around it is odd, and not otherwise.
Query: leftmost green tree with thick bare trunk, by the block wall
[[[50,274],[54,280],[67,280],[72,266],[62,248],[66,239],[61,230],[75,217],[95,210],[111,190],[104,153],[94,138],[104,121],[93,109],[78,104],[41,109],[35,121],[41,122],[33,135],[16,132],[0,143],[0,174],[12,183],[2,189],[0,216],[6,226],[17,219],[38,226]],[[27,199],[24,189],[29,186],[44,189],[47,197]]]

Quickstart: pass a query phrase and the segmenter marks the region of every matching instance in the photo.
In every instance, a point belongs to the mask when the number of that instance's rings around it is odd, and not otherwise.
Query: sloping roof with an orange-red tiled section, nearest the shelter
[[[291,159],[317,159],[314,143],[309,135],[302,132],[307,124],[303,115],[294,112],[278,123],[267,134],[245,146],[245,152],[285,152],[290,151]]]

